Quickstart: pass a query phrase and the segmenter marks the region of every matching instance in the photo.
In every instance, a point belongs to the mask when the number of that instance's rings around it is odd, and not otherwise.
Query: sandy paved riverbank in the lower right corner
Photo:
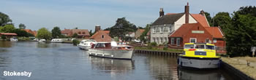
[[[256,79],[255,57],[222,57],[222,61],[241,71],[252,79]]]

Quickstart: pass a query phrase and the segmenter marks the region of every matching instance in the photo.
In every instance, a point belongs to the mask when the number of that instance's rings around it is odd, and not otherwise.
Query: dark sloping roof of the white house
[[[171,15],[163,15],[162,17],[158,17],[152,25],[165,25],[165,24],[173,24],[175,23],[179,18],[181,18],[184,15],[184,13],[178,13],[178,14],[171,14]]]

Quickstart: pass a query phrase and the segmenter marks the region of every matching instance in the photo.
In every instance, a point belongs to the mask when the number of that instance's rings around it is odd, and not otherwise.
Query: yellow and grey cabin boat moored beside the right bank
[[[178,55],[178,66],[181,68],[211,69],[219,68],[220,60],[216,55],[214,44],[186,43],[184,52]]]

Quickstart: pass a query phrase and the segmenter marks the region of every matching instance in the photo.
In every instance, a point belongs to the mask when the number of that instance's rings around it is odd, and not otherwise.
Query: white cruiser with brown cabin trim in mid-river
[[[96,42],[89,49],[89,55],[115,59],[132,59],[133,49],[128,45],[117,45],[112,42]]]

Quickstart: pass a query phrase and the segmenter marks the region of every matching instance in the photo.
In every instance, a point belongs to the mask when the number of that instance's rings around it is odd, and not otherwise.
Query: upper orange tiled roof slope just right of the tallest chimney
[[[198,23],[203,25],[203,27],[210,27],[210,25],[208,24],[208,21],[204,15],[200,15],[200,14],[190,14],[190,15],[192,15],[192,17],[194,17]]]

